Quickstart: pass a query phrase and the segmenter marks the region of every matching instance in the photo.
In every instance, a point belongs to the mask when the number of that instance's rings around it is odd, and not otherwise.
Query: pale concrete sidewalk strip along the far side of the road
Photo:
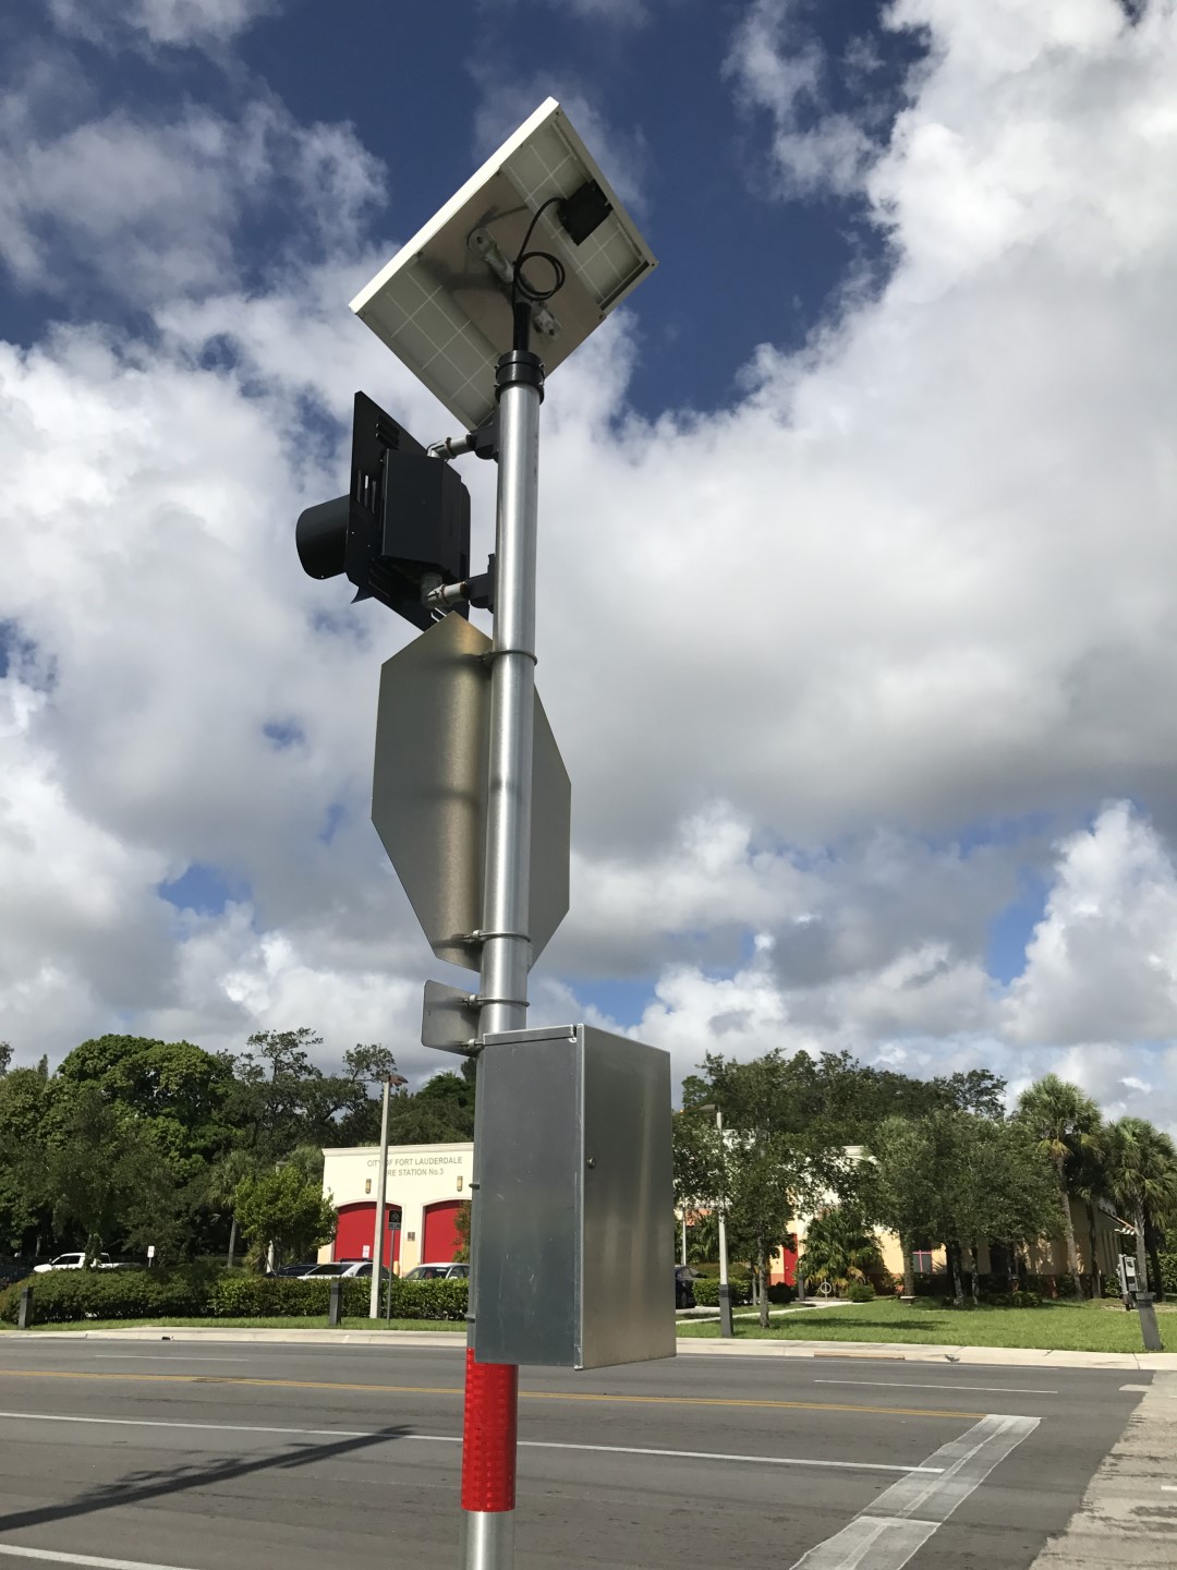
[[[0,1336],[0,1345],[6,1345],[9,1341],[206,1341],[315,1347],[449,1347],[454,1352],[466,1349],[466,1336],[460,1330],[243,1330],[228,1325],[209,1325],[207,1328],[204,1325],[133,1325],[127,1330],[9,1330]],[[1166,1352],[1044,1352],[1037,1347],[912,1345],[899,1341],[701,1341],[681,1338],[678,1355],[975,1363],[992,1367],[1153,1369],[1177,1374],[1177,1356]]]

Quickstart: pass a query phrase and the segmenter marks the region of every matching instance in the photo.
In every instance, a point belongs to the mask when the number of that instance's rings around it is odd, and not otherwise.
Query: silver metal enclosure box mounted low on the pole
[[[486,1036],[474,1171],[480,1363],[675,1355],[667,1052],[592,1025]]]

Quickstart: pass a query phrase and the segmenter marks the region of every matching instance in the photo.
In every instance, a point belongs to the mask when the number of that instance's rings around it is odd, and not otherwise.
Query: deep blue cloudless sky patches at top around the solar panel
[[[769,115],[733,102],[723,72],[745,9],[670,0],[648,22],[615,22],[546,0],[458,0],[438,27],[427,6],[399,6],[391,24],[378,0],[292,0],[235,39],[229,69],[193,49],[144,57],[100,41],[75,47],[97,111],[154,116],[190,99],[232,115],[251,80],[301,122],[350,121],[388,168],[388,207],[374,229],[391,239],[419,228],[540,97],[590,102],[610,127],[623,155],[615,177],[636,187],[636,212],[662,262],[634,323],[640,360],[629,385],[653,416],[667,407],[667,388],[676,405],[725,407],[756,342],[803,344],[847,276],[887,268],[887,246],[862,221],[858,198],[814,190],[766,199]],[[819,42],[829,61],[821,97],[802,102],[800,122],[866,100],[877,124],[893,119],[906,69],[923,52],[920,33],[882,27],[882,8],[862,0],[833,14],[796,9],[788,31],[800,44]],[[0,24],[17,64],[58,42],[42,5],[19,13]],[[855,50],[869,52],[869,64],[851,68]],[[246,276],[264,276],[271,246],[287,242],[289,217],[245,215]],[[67,308],[77,319],[97,311],[135,323],[132,301],[96,292],[85,273],[72,283]],[[42,292],[0,292],[0,330],[17,342],[35,341],[60,314],[60,301]]]

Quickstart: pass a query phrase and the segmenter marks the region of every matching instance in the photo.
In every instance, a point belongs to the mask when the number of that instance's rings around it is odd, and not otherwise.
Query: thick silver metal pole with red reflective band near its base
[[[493,1031],[526,1027],[532,962],[535,537],[543,364],[527,349],[513,349],[499,360],[497,399],[499,496],[479,1039]],[[479,1225],[477,1160],[476,1149],[472,1228]],[[476,1258],[474,1250],[471,1258]],[[477,1314],[472,1272],[469,1314],[472,1334]],[[461,1444],[465,1570],[512,1570],[515,1564],[518,1378],[515,1364],[476,1363],[472,1349],[468,1349]]]

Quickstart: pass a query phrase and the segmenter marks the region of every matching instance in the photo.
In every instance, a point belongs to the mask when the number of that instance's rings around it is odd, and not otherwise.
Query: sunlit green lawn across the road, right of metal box
[[[1177,1314],[1158,1314],[1166,1350],[1177,1352]],[[1117,1305],[1044,1303],[1040,1308],[942,1308],[927,1303],[855,1303],[777,1319],[769,1330],[736,1319],[736,1336],[772,1341],[901,1341],[913,1345],[1042,1347],[1062,1352],[1142,1352],[1139,1317]],[[680,1336],[717,1336],[717,1324],[678,1325]]]

